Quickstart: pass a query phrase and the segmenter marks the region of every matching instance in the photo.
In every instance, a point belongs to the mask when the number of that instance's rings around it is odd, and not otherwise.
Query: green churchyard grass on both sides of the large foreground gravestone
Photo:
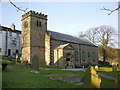
[[[97,70],[98,72],[114,76],[110,72],[110,68],[104,68]],[[6,71],[2,72],[2,87],[3,88],[81,88],[75,84],[66,82],[51,80],[48,74],[80,74],[82,79],[84,72],[82,71],[64,71],[64,70],[39,70],[40,74],[34,74],[26,69],[24,65],[20,64],[9,64]],[[108,72],[109,71],[109,72]],[[101,78],[101,88],[116,88],[115,82],[105,78]]]

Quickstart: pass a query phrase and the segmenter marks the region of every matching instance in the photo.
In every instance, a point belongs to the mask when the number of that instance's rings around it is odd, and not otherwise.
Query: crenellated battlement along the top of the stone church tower
[[[27,18],[28,16],[38,17],[38,18],[42,18],[42,19],[47,20],[47,15],[42,14],[42,13],[38,13],[38,12],[35,12],[32,10],[30,10],[27,13],[25,13],[24,15],[22,15],[22,20]]]

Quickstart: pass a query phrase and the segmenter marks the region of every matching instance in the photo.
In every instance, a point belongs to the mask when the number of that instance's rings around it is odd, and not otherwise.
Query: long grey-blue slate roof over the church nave
[[[86,38],[77,38],[71,35],[67,34],[62,34],[54,31],[47,30],[48,33],[51,35],[51,39],[53,40],[60,40],[60,41],[66,41],[66,42],[72,42],[72,43],[77,43],[77,44],[84,44],[84,45],[89,45],[89,46],[95,46],[94,43],[89,41]]]

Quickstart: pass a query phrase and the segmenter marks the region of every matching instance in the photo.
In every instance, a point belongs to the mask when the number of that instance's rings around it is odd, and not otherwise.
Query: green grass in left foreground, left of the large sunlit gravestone
[[[41,74],[34,74],[28,69],[9,65],[6,71],[3,71],[3,88],[80,88],[75,84],[69,84],[61,81],[55,81],[44,76],[48,72],[54,71],[40,70]],[[58,71],[55,71],[57,73]],[[67,73],[67,71],[66,71]],[[68,73],[71,73],[68,71]]]

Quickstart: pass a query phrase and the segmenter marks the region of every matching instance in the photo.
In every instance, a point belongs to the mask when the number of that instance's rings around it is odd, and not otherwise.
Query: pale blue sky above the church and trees
[[[30,0],[28,0],[30,1]],[[118,12],[107,15],[104,7],[115,9],[117,2],[14,2],[17,6],[48,15],[48,30],[76,35],[80,31],[100,25],[118,29]],[[0,24],[9,27],[12,23],[21,30],[21,16],[9,2],[0,3]]]

